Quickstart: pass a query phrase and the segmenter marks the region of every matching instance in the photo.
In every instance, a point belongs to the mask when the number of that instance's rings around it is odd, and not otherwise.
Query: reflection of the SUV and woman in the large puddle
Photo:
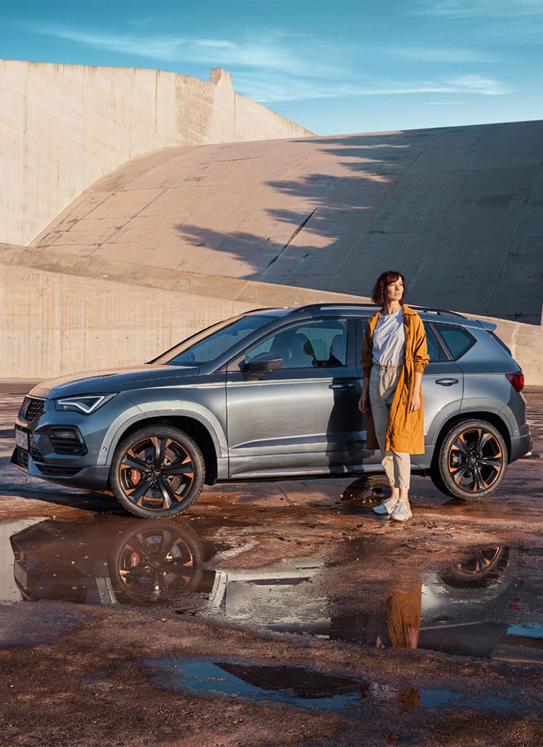
[[[326,584],[314,583],[326,579],[329,567],[321,560],[221,569],[216,553],[225,548],[201,539],[189,521],[40,521],[10,542],[25,600],[163,605],[180,614],[377,647],[543,660],[543,627],[530,619],[539,615],[543,588],[524,581],[541,578],[538,548],[476,549],[464,562],[406,584],[383,600],[380,613],[343,616],[338,589],[332,604],[322,592]],[[362,583],[360,598],[368,593]]]

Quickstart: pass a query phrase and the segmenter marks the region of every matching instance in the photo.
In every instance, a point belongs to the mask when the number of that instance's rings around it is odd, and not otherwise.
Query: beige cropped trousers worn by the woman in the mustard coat
[[[386,429],[389,426],[390,406],[398,379],[400,366],[380,366],[374,363],[369,379],[369,403],[374,421],[375,435],[381,450],[381,464],[392,488],[409,489],[411,457],[405,451],[385,450]]]

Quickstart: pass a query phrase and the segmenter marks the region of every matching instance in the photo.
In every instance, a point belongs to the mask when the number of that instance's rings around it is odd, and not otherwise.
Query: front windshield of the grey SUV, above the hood
[[[168,350],[153,362],[169,366],[204,365],[218,358],[233,344],[274,318],[265,314],[252,314],[241,319],[228,320],[221,326],[216,325],[210,329],[204,329],[199,335],[181,342],[173,350]]]

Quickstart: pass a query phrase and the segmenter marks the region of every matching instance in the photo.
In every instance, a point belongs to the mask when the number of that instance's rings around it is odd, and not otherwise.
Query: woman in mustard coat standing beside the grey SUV
[[[365,412],[368,449],[381,450],[392,495],[374,512],[395,521],[411,518],[410,454],[424,453],[421,381],[429,362],[421,317],[404,303],[401,273],[382,273],[371,295],[381,310],[366,324],[362,344],[364,383],[358,406]],[[369,394],[369,403],[368,403]]]

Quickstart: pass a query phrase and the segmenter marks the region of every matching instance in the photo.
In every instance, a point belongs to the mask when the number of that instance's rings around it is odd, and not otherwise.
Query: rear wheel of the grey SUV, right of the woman
[[[498,428],[471,418],[444,434],[432,462],[430,477],[451,498],[478,500],[492,495],[503,480],[507,449]]]

